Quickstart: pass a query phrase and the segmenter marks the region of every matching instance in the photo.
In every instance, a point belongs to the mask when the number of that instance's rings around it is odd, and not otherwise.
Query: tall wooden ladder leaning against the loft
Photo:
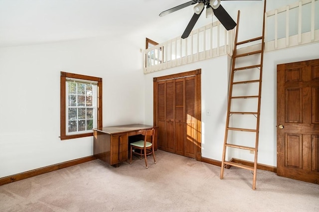
[[[229,94],[228,94],[228,107],[227,107],[227,119],[226,119],[226,128],[225,128],[225,138],[224,138],[224,146],[223,146],[223,155],[222,155],[222,162],[221,162],[221,172],[220,172],[220,179],[223,179],[223,175],[224,175],[224,168],[227,166],[228,168],[230,166],[236,166],[239,168],[243,168],[243,169],[248,169],[250,171],[253,172],[253,190],[256,189],[256,175],[257,175],[257,153],[258,153],[258,138],[259,138],[259,121],[260,121],[260,100],[261,100],[261,86],[262,86],[262,73],[263,73],[263,55],[264,55],[264,32],[265,32],[265,8],[266,8],[266,0],[265,0],[265,5],[264,5],[264,19],[263,19],[263,31],[262,31],[262,36],[260,37],[256,37],[253,39],[249,39],[249,40],[245,40],[242,42],[237,42],[237,38],[238,38],[238,28],[239,28],[239,17],[240,17],[240,11],[238,11],[238,16],[237,16],[237,27],[236,27],[236,35],[235,35],[235,46],[234,46],[234,52],[233,52],[233,56],[232,56],[232,70],[231,70],[231,78],[230,78],[230,85],[229,85]],[[249,52],[245,52],[245,53],[237,53],[237,46],[243,45],[250,42],[258,42],[261,40],[261,45],[260,48],[258,48],[256,50],[256,48],[252,51]],[[258,46],[258,45],[255,45]],[[252,47],[252,46],[250,46]],[[249,48],[249,47],[247,47]],[[253,49],[253,48],[251,48]],[[253,57],[252,60],[250,60],[248,57]],[[259,57],[260,56],[260,57]],[[256,57],[259,57],[258,59],[256,59]],[[241,60],[246,58],[246,63],[247,61],[249,61],[249,63],[253,63],[252,65],[249,64],[249,66],[244,66],[244,67],[236,67],[236,60],[242,58]],[[260,61],[260,63],[259,63]],[[245,62],[244,62],[245,63]],[[235,68],[236,67],[236,68]],[[243,77],[237,77],[236,78],[236,74],[240,73],[241,71],[245,71],[246,75],[245,76],[252,76],[252,75],[256,75],[256,70],[257,72],[259,72],[259,77],[256,77],[255,79],[242,79]],[[255,74],[254,74],[254,73]],[[258,79],[259,78],[259,79]],[[235,80],[234,80],[235,79]],[[240,80],[238,80],[240,79]],[[256,88],[259,87],[258,89],[258,94],[257,91],[256,94],[253,95],[236,95],[233,94],[233,91],[235,90],[241,90],[241,91],[245,91],[245,87],[246,86],[246,90],[249,89],[247,87],[248,84],[255,84]],[[259,84],[259,86],[257,85]],[[236,89],[234,89],[234,86],[236,87]],[[243,87],[241,87],[243,86]],[[247,91],[245,91],[247,93]],[[244,92],[244,93],[245,93]],[[252,93],[251,91],[248,91],[248,93]],[[256,101],[258,101],[257,108],[256,111],[247,111],[245,109],[242,109],[240,111],[238,111],[238,109],[233,109],[233,107],[235,106],[235,103],[233,103],[236,100],[240,100],[241,101],[248,101],[251,99],[256,99]],[[233,106],[232,106],[233,104]],[[245,105],[246,103],[244,103],[243,105]],[[247,104],[246,104],[247,105]],[[238,107],[238,106],[237,106]],[[251,107],[251,106],[250,106]],[[249,108],[251,109],[251,108]],[[236,116],[237,119],[240,118],[239,120],[244,120],[244,116],[247,117],[247,115],[253,115],[256,117],[256,127],[255,128],[241,128],[241,127],[234,127],[231,126],[232,124],[230,124],[230,118],[231,116]],[[236,120],[237,120],[236,119]],[[242,125],[242,124],[241,124]],[[235,142],[231,142],[229,141],[230,139],[228,138],[228,133],[229,131],[237,131],[237,132],[233,132],[233,139],[235,140],[236,138],[238,139],[238,135],[241,134],[241,132],[244,133],[255,133],[256,136],[256,140],[254,142],[254,145],[252,144],[251,146],[244,146],[244,145],[238,145],[238,144],[234,144]],[[236,137],[237,136],[237,137]],[[240,138],[238,139],[240,140]],[[238,142],[237,142],[238,143]],[[254,166],[248,166],[248,165],[244,165],[241,163],[237,163],[235,161],[226,161],[226,150],[227,148],[237,148],[237,149],[244,149],[244,150],[250,150],[251,153],[254,153]],[[236,160],[238,161],[238,160]]]

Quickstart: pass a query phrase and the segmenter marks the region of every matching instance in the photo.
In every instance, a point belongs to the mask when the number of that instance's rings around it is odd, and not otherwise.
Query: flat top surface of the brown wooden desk
[[[131,132],[131,131],[137,131],[142,129],[152,129],[152,128],[154,128],[154,126],[152,125],[128,124],[128,125],[121,125],[121,126],[99,127],[99,128],[94,128],[93,130],[103,132],[106,134],[118,134],[118,133]]]

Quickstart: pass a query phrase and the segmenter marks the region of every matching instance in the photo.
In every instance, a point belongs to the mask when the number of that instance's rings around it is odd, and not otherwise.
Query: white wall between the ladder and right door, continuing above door
[[[264,54],[258,163],[277,166],[277,65],[313,59],[319,43]]]

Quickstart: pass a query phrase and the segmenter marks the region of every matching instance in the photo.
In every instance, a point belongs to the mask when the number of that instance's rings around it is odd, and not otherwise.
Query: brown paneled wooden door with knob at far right
[[[277,174],[319,184],[319,59],[277,66]]]

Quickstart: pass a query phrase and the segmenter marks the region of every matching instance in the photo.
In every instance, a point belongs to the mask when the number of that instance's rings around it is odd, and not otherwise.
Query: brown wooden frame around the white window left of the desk
[[[97,128],[102,127],[102,78],[62,72],[60,75],[60,139],[73,139],[93,136],[93,132],[66,134],[66,81],[67,78],[97,82]]]

